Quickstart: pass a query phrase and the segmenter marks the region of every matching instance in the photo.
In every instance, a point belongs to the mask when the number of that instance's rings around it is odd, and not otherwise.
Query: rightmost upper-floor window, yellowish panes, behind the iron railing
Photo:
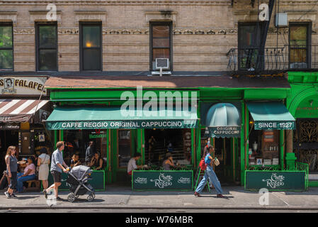
[[[290,68],[310,67],[310,24],[290,23]]]

